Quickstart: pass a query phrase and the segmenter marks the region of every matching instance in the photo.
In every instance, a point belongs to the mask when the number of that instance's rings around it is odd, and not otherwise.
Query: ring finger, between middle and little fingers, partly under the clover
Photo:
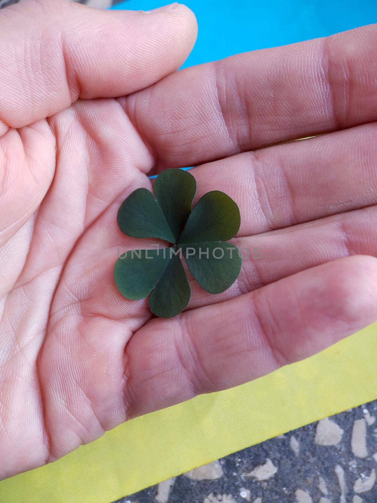
[[[223,302],[327,262],[352,255],[377,257],[377,206],[349,211],[256,236],[232,239],[241,272],[225,292],[211,295],[188,274],[187,309]]]

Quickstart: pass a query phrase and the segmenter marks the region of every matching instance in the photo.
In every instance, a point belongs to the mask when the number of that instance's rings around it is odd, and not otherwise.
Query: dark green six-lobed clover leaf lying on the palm
[[[221,293],[237,279],[242,259],[234,237],[241,218],[237,204],[226,194],[205,194],[192,210],[197,190],[188,172],[169,169],[155,180],[154,194],[137,189],[122,203],[118,225],[132,237],[157,237],[171,247],[129,250],[115,263],[114,280],[130,300],[149,295],[149,308],[161,318],[183,311],[191,290],[183,257],[197,283],[209,293]]]

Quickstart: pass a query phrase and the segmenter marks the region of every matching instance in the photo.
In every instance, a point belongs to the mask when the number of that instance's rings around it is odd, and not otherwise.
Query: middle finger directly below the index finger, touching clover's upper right
[[[228,194],[238,236],[377,204],[376,139],[373,123],[201,165],[194,204],[214,187]]]

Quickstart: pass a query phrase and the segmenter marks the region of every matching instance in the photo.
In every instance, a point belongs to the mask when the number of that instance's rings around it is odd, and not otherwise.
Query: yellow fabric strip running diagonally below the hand
[[[377,323],[303,362],[140,417],[0,482],[1,503],[109,503],[377,397]]]

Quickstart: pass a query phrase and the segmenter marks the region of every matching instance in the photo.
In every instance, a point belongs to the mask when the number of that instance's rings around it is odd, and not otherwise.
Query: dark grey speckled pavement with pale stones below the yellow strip
[[[117,503],[375,503],[376,478],[374,401],[231,454]]]

